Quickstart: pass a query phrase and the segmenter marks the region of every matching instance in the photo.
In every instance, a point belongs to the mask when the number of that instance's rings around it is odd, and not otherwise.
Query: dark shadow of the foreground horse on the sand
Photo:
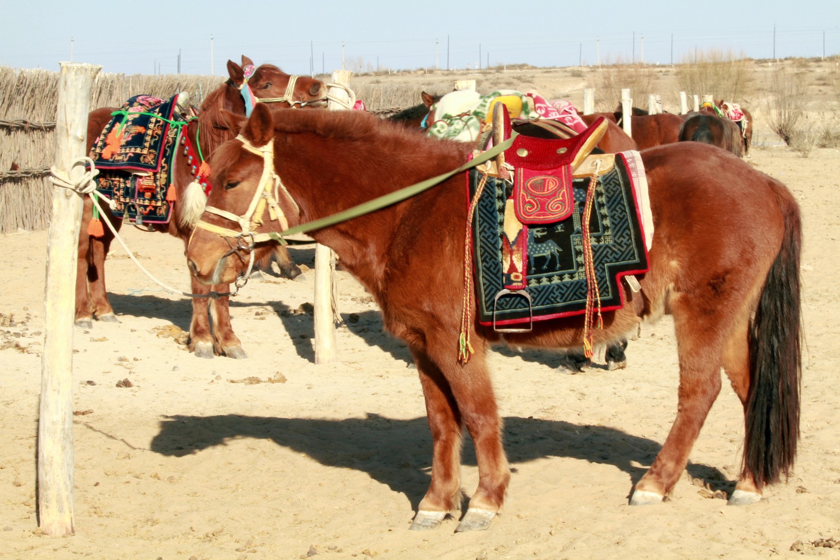
[[[616,428],[577,425],[567,421],[508,416],[503,438],[512,472],[517,463],[538,458],[575,458],[612,465],[627,473],[633,484],[646,472],[661,447],[659,442]],[[329,467],[353,468],[391,490],[407,496],[416,510],[428,489],[432,439],[425,417],[395,420],[378,414],[365,418],[325,420],[270,416],[169,416],[151,451],[186,457],[241,438],[270,439],[297,453],[305,453]],[[467,437],[469,439],[469,437]],[[462,463],[475,466],[475,451],[465,442]],[[635,463],[635,464],[634,464]],[[689,464],[693,477],[725,480],[717,468]]]

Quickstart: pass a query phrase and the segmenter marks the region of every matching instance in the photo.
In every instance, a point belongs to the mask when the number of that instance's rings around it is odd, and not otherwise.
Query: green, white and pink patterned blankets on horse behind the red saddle
[[[523,121],[557,121],[575,133],[582,133],[586,129],[583,119],[568,102],[565,105],[560,104],[558,109],[558,106],[553,104],[556,102],[546,102],[535,93],[498,90],[490,95],[481,96],[471,90],[463,90],[447,93],[435,103],[433,123],[428,128],[428,135],[459,142],[475,142],[481,133],[490,129],[496,103],[504,104],[511,118]]]

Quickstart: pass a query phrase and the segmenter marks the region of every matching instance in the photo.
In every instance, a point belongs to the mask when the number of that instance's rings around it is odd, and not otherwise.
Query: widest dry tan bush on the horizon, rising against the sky
[[[743,102],[753,94],[753,65],[731,50],[702,50],[677,66],[680,90],[691,95]]]

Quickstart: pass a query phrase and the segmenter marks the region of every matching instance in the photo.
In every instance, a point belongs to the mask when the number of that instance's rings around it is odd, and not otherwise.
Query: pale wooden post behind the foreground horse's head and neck
[[[333,71],[332,82],[349,86],[352,72],[348,70]],[[329,94],[344,101],[349,101],[347,92],[340,87],[329,88]],[[340,111],[344,107],[330,100],[327,104],[330,111]],[[328,364],[338,357],[335,343],[335,310],[333,305],[335,294],[335,254],[333,249],[318,243],[315,245],[315,363]]]

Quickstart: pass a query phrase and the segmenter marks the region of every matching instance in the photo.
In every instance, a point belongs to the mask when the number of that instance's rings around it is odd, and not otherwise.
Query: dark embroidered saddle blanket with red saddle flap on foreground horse
[[[621,308],[622,276],[648,270],[651,234],[646,235],[645,222],[651,233],[652,223],[645,212],[647,182],[638,152],[591,156],[578,172],[550,161],[521,170],[515,157],[506,152],[506,158],[517,167],[513,181],[475,169],[467,174],[470,201],[486,181],[471,239],[481,324],[516,326],[585,313],[592,288],[587,259],[600,310]],[[593,170],[595,160],[600,163]],[[559,176],[551,175],[555,169],[562,170]],[[584,243],[582,217],[593,172],[591,243]]]

